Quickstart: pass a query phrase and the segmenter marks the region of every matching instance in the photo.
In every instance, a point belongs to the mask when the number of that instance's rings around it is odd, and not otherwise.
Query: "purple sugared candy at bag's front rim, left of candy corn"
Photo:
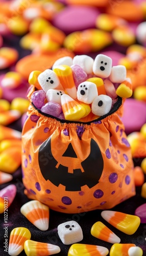
[[[50,101],[42,106],[41,112],[54,117],[59,117],[59,115],[62,113],[62,107],[60,104]]]

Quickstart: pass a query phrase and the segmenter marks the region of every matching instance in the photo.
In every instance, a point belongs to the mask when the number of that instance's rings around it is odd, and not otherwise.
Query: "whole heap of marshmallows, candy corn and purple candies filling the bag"
[[[31,73],[29,82],[35,85],[36,77],[42,90],[32,94],[33,104],[59,119],[91,121],[108,114],[117,96],[132,95],[125,66],[112,67],[112,59],[103,54],[94,60],[87,55],[60,58],[52,70]]]

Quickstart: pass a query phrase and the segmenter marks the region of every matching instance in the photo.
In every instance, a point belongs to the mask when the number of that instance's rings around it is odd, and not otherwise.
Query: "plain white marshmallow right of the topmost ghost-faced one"
[[[123,65],[113,66],[109,79],[111,82],[123,82],[126,80],[126,67]]]

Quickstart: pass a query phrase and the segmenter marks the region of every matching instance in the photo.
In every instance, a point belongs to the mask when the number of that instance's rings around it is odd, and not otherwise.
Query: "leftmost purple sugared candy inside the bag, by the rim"
[[[43,90],[36,91],[32,94],[31,100],[36,108],[41,109],[44,104],[45,92]]]

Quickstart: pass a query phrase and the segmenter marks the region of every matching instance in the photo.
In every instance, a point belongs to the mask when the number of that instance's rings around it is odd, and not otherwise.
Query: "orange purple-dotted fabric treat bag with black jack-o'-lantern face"
[[[109,209],[134,196],[131,149],[118,116],[122,109],[87,124],[61,122],[30,104],[22,130],[25,194],[71,214]]]

